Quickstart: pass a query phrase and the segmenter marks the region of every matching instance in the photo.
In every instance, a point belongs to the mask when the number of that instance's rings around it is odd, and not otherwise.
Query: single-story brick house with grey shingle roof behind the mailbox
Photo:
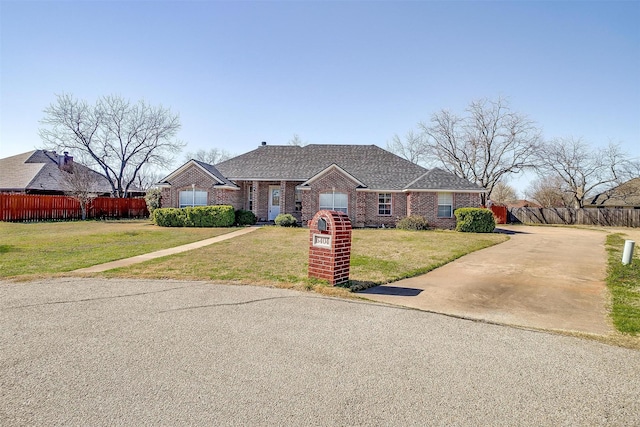
[[[345,212],[354,227],[393,226],[422,215],[455,227],[453,212],[480,206],[484,189],[425,169],[375,145],[266,145],[217,165],[190,160],[162,180],[162,206],[229,204],[259,220],[280,213],[306,225],[321,209]]]

